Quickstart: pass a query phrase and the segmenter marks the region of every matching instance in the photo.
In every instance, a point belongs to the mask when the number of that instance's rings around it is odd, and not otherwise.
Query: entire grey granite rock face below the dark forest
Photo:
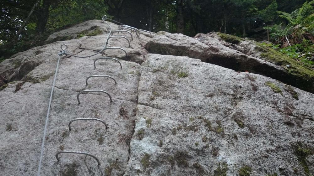
[[[79,35],[91,26],[103,34]],[[107,27],[99,20],[78,24],[47,41],[74,39],[0,63],[0,175],[37,174],[60,45],[68,44],[69,53],[78,56],[94,54],[106,43]],[[313,175],[313,82],[307,80],[303,90],[280,82],[270,73],[295,78],[280,65],[284,62],[265,59],[252,41],[223,37],[133,35],[130,47],[123,38],[108,42],[127,56],[117,49],[89,58],[62,56],[41,175]],[[94,69],[94,60],[107,56],[119,58],[122,70],[114,60],[98,60]],[[240,72],[246,70],[256,74]],[[86,85],[90,75],[109,75],[117,84],[94,77]],[[78,104],[79,91],[94,89],[107,91],[113,101],[106,94],[87,93]],[[74,121],[69,131],[75,118],[98,118],[108,128],[97,121]],[[57,162],[55,154],[68,150],[90,153],[101,164],[68,153]]]

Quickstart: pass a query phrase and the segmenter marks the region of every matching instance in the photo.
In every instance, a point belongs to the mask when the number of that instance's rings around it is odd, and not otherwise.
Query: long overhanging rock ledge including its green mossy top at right
[[[225,39],[231,43],[219,41]],[[188,56],[236,71],[249,71],[314,93],[314,70],[279,52],[226,34],[157,33],[145,48],[150,53]]]

